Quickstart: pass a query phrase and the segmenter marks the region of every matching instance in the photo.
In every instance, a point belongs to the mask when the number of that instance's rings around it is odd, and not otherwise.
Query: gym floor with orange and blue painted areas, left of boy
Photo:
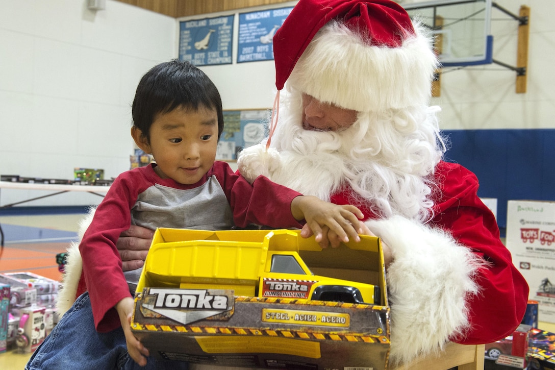
[[[77,238],[78,221],[83,213],[0,216],[4,248],[0,273],[29,271],[60,281],[56,254],[64,252]],[[22,370],[30,353],[17,353],[13,347],[0,353],[0,369]]]

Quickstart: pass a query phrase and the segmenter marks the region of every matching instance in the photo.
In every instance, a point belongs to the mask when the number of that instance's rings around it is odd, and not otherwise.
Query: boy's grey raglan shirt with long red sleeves
[[[225,162],[215,162],[193,185],[162,179],[152,165],[124,172],[97,207],[79,245],[83,273],[77,296],[88,290],[95,327],[111,331],[120,325],[113,307],[131,297],[115,244],[132,223],[211,230],[249,223],[301,227],[291,214],[291,201],[299,195],[263,176],[251,185]]]

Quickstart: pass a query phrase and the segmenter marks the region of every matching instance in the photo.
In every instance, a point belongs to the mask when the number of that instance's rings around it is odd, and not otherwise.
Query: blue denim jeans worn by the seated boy
[[[95,330],[89,294],[83,293],[36,349],[25,368],[154,370],[187,369],[188,366],[185,362],[148,357],[147,366],[139,367],[127,352],[121,327],[108,333]]]

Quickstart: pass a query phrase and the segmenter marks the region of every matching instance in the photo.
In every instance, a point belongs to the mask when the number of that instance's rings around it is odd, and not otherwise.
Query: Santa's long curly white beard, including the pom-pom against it
[[[245,178],[254,181],[263,174],[325,201],[349,185],[355,206],[365,204],[384,217],[430,217],[433,184],[428,178],[444,151],[438,140],[438,108],[362,112],[344,130],[307,131],[302,128],[300,94],[285,94],[269,151],[264,141],[239,154]]]

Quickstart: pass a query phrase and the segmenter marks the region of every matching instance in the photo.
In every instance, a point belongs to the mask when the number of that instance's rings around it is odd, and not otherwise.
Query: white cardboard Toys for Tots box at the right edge
[[[538,302],[538,321],[555,323],[555,202],[508,201],[507,248]]]

